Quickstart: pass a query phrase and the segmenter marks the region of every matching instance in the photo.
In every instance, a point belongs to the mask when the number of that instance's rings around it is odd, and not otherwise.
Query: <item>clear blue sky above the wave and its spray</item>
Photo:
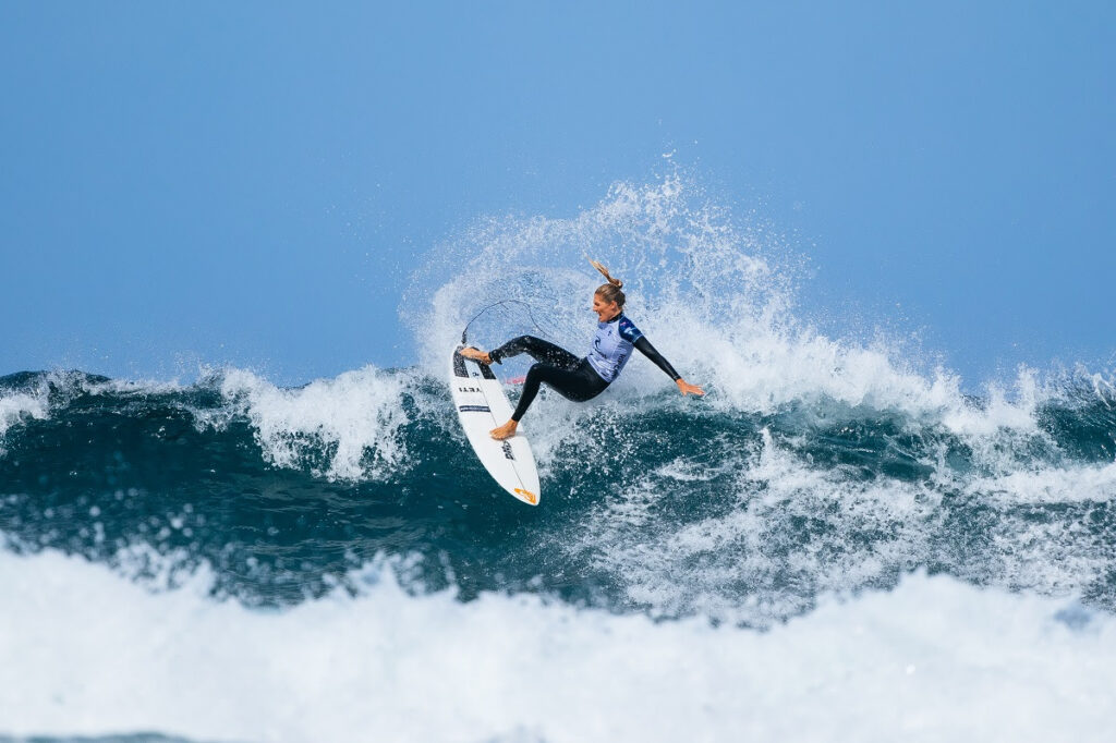
[[[675,158],[804,311],[1112,366],[1109,3],[0,4],[0,374],[408,363],[410,267]],[[793,245],[792,245],[793,247]]]

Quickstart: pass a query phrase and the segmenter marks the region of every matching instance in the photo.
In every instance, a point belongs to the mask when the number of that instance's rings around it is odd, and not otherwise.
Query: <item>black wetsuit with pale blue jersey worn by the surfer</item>
[[[511,414],[511,419],[518,422],[535,402],[539,385],[543,382],[562,397],[576,403],[596,397],[619,376],[631,357],[632,348],[638,349],[672,379],[680,378],[674,367],[660,356],[651,341],[624,315],[597,324],[593,350],[586,358],[578,358],[565,348],[535,336],[512,338],[490,351],[489,356],[496,364],[520,354],[528,354],[537,361],[527,373],[523,394],[519,398],[516,412]]]

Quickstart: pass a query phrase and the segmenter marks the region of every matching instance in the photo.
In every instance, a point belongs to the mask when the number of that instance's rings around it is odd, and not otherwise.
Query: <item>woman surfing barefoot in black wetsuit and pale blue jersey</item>
[[[593,348],[589,349],[588,356],[578,358],[565,348],[533,336],[512,338],[487,354],[471,346],[461,349],[462,356],[481,364],[502,364],[503,359],[520,354],[528,354],[537,361],[527,373],[523,394],[519,398],[516,412],[511,414],[508,423],[491,431],[493,438],[510,438],[516,435],[519,421],[535,401],[539,385],[543,382],[562,397],[575,403],[584,403],[596,397],[619,376],[632,356],[633,348],[668,374],[683,397],[705,394],[701,387],[683,379],[670,361],[660,356],[635,324],[624,315],[624,292],[620,291],[624,282],[609,276],[608,269],[597,261],[589,262],[605,274],[608,283],[597,287],[593,295],[593,311],[597,313],[597,334],[593,338]]]

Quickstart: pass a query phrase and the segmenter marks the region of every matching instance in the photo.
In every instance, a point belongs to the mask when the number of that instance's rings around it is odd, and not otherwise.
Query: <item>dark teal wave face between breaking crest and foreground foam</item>
[[[205,565],[250,605],[321,596],[379,556],[462,599],[757,627],[917,568],[1116,608],[1116,401],[1100,388],[936,419],[831,398],[733,412],[666,392],[554,396],[525,423],[556,422],[537,436],[539,509],[499,492],[441,380],[415,370],[0,388],[27,409],[0,459],[11,549],[171,583]]]

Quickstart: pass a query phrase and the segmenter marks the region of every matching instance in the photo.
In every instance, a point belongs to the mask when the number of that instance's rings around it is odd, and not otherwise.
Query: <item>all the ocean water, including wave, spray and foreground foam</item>
[[[638,356],[543,393],[530,508],[445,354],[478,312],[581,349],[586,253],[709,395]],[[783,238],[679,175],[422,266],[405,368],[0,377],[0,740],[1112,740],[1110,370],[966,394],[826,336]]]

